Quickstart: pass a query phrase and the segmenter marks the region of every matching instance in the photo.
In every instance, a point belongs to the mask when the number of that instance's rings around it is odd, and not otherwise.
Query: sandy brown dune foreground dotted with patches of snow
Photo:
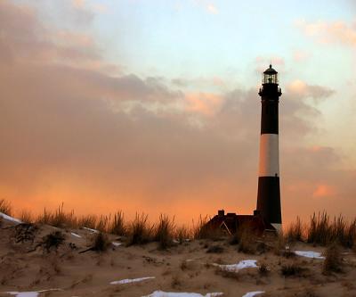
[[[352,251],[344,251],[342,273],[325,276],[324,248],[305,243],[292,245],[299,256],[286,258],[272,251],[237,252],[226,239],[176,243],[159,251],[157,243],[126,247],[123,238],[109,235],[107,252],[79,253],[90,245],[93,230],[43,225],[34,229],[33,241],[16,242],[16,225],[3,217],[0,296],[356,296]],[[46,252],[38,243],[56,231],[65,239],[57,251]],[[206,252],[212,246],[222,249]],[[282,276],[281,268],[292,264],[302,272]]]

